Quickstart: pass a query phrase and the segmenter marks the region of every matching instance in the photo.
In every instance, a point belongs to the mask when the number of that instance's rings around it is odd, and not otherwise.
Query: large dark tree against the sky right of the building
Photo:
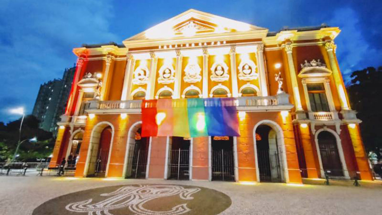
[[[354,71],[350,76],[348,95],[351,108],[358,112],[362,120],[361,134],[367,151],[374,151],[381,157],[382,132],[382,67],[367,67]]]

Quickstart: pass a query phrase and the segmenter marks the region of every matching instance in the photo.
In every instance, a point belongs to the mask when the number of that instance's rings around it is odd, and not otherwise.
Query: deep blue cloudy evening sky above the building
[[[379,0],[1,0],[0,121],[31,113],[41,83],[61,78],[76,62],[81,44],[118,44],[190,8],[254,24],[283,26],[327,23],[342,32],[337,56],[345,80],[354,70],[381,66],[382,2]]]

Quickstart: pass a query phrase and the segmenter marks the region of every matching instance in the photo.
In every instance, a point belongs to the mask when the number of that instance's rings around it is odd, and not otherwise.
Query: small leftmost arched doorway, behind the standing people
[[[68,163],[67,168],[76,169],[83,136],[83,130],[78,130],[73,134],[73,137],[71,138],[71,145],[66,153],[66,163]]]

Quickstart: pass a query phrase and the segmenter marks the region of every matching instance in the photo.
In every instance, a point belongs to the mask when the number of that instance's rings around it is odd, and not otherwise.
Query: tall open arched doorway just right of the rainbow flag
[[[256,128],[256,153],[260,182],[282,182],[283,162],[276,131],[268,125]]]

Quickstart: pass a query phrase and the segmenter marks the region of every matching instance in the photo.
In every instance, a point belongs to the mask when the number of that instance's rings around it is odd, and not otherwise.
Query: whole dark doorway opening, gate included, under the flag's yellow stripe
[[[172,137],[169,141],[168,179],[189,180],[190,143],[185,137]]]

